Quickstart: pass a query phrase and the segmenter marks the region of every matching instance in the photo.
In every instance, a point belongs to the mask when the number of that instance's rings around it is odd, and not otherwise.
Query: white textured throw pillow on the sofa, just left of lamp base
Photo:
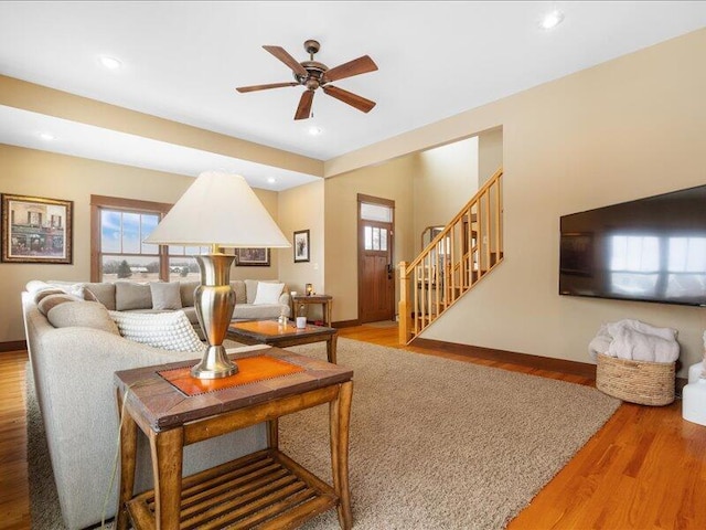
[[[184,311],[121,312],[108,311],[126,339],[153,348],[173,351],[203,351],[205,346]]]

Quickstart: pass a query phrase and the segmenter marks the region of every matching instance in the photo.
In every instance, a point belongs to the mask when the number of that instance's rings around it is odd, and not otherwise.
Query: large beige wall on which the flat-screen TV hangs
[[[635,318],[700,360],[703,308],[557,294],[560,215],[706,183],[700,64],[706,30],[466,113],[503,125],[505,262],[424,337],[589,362],[601,324]]]

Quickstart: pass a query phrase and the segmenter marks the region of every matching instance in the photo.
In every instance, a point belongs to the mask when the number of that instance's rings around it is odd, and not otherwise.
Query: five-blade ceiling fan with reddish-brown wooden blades
[[[311,103],[313,102],[313,94],[317,88],[321,89],[329,96],[351,105],[364,113],[370,113],[375,106],[375,102],[353,94],[352,92],[344,91],[338,86],[332,86],[329,83],[333,81],[344,80],[354,75],[366,74],[367,72],[374,72],[377,70],[377,65],[373,60],[363,55],[362,57],[354,59],[347,63],[340,64],[333,68],[329,68],[325,64],[319,63],[313,60],[314,53],[321,49],[321,44],[314,40],[308,40],[304,42],[304,50],[309,54],[309,61],[298,63],[284,47],[280,46],[263,46],[269,53],[279,59],[282,63],[289,66],[295,75],[296,82],[289,83],[271,83],[268,85],[253,85],[240,86],[236,88],[239,93],[267,91],[269,88],[281,88],[285,86],[302,85],[307,89],[299,99],[299,106],[295,114],[295,119],[307,119],[311,116]]]

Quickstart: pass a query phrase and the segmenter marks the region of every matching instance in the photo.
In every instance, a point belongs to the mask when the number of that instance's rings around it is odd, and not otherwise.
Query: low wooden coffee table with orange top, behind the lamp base
[[[280,326],[277,320],[232,322],[227,335],[229,339],[244,344],[268,344],[277,348],[325,341],[327,357],[329,362],[334,364],[336,362],[335,346],[338,336],[339,332],[335,328],[307,324],[306,328],[298,329],[291,320],[287,326]]]

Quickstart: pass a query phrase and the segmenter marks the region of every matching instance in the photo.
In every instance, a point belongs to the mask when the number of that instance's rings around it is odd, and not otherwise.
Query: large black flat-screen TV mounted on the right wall
[[[706,306],[706,186],[560,223],[560,295]]]

